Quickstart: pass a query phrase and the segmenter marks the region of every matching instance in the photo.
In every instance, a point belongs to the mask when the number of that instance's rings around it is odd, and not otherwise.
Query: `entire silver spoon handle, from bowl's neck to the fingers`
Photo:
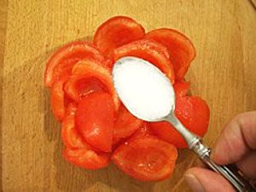
[[[164,120],[171,123],[177,129],[177,131],[185,139],[186,143],[188,143],[189,148],[192,149],[195,154],[197,154],[200,159],[207,164],[207,166],[209,166],[214,172],[218,172],[223,177],[225,177],[237,191],[256,191],[253,189],[249,181],[241,174],[241,172],[237,168],[234,168],[236,167],[235,165],[218,166],[215,164],[210,158],[211,148],[208,148],[206,145],[204,145],[200,137],[195,136],[195,134],[187,130],[174,114],[170,114]]]

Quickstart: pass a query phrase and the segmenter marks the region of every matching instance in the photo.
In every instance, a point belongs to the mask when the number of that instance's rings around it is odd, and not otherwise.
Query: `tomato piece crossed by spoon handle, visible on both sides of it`
[[[175,114],[183,125],[203,137],[207,132],[210,110],[207,102],[199,96],[177,97]],[[174,144],[177,148],[187,148],[188,145],[183,137],[169,123],[157,122],[150,123],[155,134],[166,142]]]

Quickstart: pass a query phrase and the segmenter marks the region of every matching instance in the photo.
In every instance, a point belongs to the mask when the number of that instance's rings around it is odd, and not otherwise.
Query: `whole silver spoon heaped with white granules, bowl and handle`
[[[133,115],[149,122],[171,123],[207,166],[225,177],[237,191],[253,192],[252,186],[233,166],[216,165],[210,159],[211,148],[177,119],[172,83],[157,67],[137,57],[123,57],[114,64],[113,84],[120,100]]]

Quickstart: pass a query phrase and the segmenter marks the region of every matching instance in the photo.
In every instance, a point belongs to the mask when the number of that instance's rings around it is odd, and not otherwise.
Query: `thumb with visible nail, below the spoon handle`
[[[236,192],[224,177],[204,168],[191,168],[184,177],[194,192]]]

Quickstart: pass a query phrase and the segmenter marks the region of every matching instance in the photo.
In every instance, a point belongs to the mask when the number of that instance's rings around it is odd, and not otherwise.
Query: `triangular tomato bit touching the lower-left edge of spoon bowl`
[[[120,138],[129,137],[142,125],[142,119],[137,119],[125,108],[124,105],[121,105],[113,126],[113,139],[118,140]]]

